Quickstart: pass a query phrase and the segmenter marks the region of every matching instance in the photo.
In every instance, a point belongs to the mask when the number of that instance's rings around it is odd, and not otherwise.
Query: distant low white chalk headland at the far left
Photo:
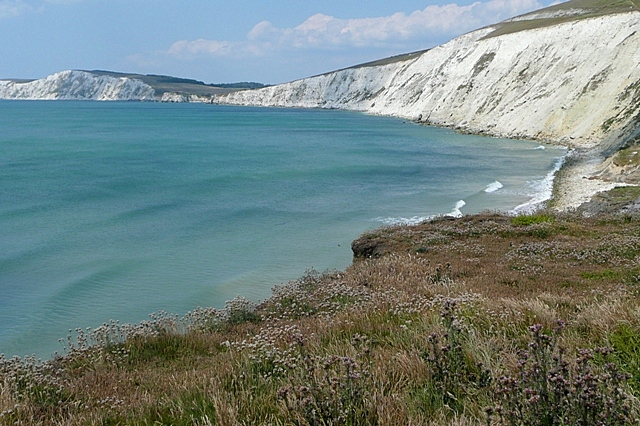
[[[153,101],[154,89],[140,80],[62,71],[27,83],[0,81],[0,99]]]

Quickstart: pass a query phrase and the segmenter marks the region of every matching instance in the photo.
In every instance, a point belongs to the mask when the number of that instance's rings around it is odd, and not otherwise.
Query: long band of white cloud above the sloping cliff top
[[[179,41],[166,53],[193,59],[200,55],[263,55],[273,49],[402,48],[409,42],[426,48],[434,40],[451,38],[542,6],[538,0],[487,0],[468,6],[428,6],[408,15],[396,13],[378,18],[339,19],[316,14],[294,28],[260,22],[246,40],[239,42]]]

